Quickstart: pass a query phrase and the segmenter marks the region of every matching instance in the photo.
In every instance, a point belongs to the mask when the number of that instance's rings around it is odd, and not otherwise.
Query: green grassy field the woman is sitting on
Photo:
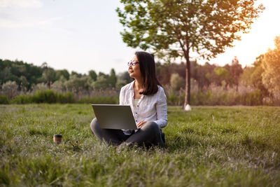
[[[0,105],[0,186],[280,186],[279,107],[172,106],[149,150],[101,144],[92,118],[89,104]]]

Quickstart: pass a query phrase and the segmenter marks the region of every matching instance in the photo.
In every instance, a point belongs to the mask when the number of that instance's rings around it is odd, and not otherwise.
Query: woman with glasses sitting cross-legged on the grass
[[[131,106],[138,130],[102,129],[97,118],[90,128],[99,140],[113,145],[163,146],[161,128],[167,125],[167,99],[155,77],[153,55],[136,52],[128,66],[130,77],[135,80],[121,88],[120,104]]]

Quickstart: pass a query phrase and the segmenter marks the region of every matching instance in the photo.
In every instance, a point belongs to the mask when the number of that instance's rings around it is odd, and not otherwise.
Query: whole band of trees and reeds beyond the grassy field
[[[269,92],[262,80],[263,59],[264,55],[260,55],[251,67],[245,68],[236,57],[223,67],[208,62],[203,65],[191,62],[191,104],[279,104],[279,97]],[[55,70],[45,62],[38,67],[18,60],[0,60],[0,69],[0,103],[118,103],[120,88],[132,81],[127,71],[118,75],[114,69],[110,74],[97,74],[94,70],[87,74],[69,73],[66,69]],[[156,71],[168,103],[182,105],[186,64],[157,63]],[[49,98],[45,94],[52,95],[52,99],[42,99]]]

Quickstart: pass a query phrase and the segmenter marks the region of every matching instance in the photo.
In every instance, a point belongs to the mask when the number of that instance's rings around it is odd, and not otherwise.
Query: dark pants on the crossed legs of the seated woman
[[[125,135],[123,130],[102,129],[97,122],[97,118],[90,123],[90,129],[92,133],[101,141],[105,141],[107,144],[118,146],[120,144],[126,144],[127,146],[163,146],[162,132],[160,127],[154,122],[147,122],[137,132]]]

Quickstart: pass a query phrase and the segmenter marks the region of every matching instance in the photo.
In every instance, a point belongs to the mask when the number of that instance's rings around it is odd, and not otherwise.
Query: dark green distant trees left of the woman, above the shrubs
[[[57,86],[63,84],[65,87],[77,90],[78,88],[87,90],[91,86],[94,88],[108,88],[109,86],[115,88],[118,79],[114,69],[111,69],[110,74],[102,72],[97,74],[94,70],[88,71],[87,74],[79,74],[76,71],[69,73],[66,69],[55,70],[48,67],[45,62],[41,67],[38,67],[18,60],[0,59],[0,69],[0,85],[14,81],[18,85],[18,90],[33,90],[40,83],[48,85],[48,88],[56,83]],[[119,79],[130,81],[131,78],[127,76],[127,74],[120,74]]]

